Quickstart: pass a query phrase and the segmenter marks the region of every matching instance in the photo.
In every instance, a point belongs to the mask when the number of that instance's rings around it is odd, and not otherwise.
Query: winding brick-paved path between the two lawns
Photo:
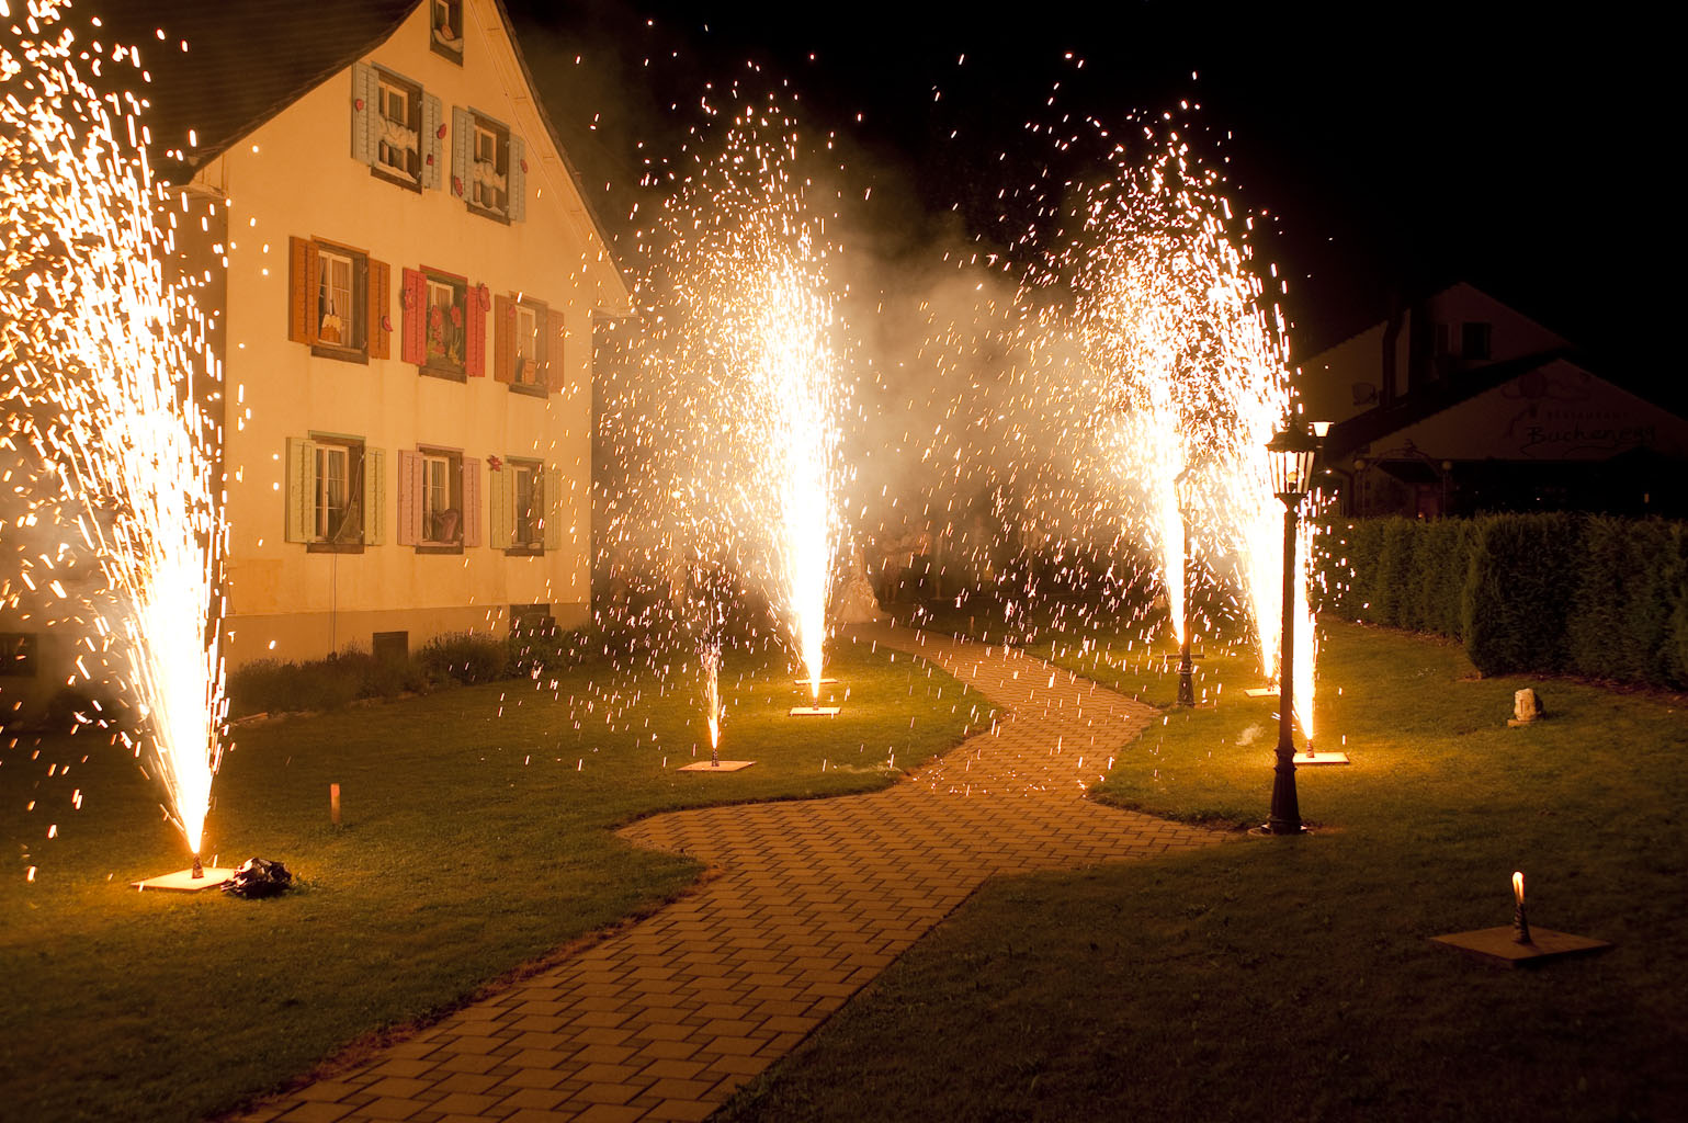
[[[702,1120],[993,873],[1205,846],[1082,799],[1151,709],[1018,650],[906,628],[991,728],[869,795],[682,811],[623,836],[722,870],[648,920],[250,1116]]]

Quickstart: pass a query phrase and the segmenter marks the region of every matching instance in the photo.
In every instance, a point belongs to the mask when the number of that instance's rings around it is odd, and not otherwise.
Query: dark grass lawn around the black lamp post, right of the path
[[[1264,819],[1276,706],[1224,664],[1101,799]],[[1550,718],[1509,730],[1521,686]],[[1688,1118],[1678,704],[1330,627],[1317,719],[1354,765],[1298,772],[1318,833],[987,885],[722,1118]],[[1617,949],[1504,971],[1428,942],[1509,924],[1514,868],[1536,927]]]

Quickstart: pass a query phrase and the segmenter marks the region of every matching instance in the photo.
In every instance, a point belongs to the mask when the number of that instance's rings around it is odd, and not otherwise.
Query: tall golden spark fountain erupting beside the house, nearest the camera
[[[27,29],[0,42],[5,442],[56,481],[29,503],[74,512],[98,559],[111,593],[98,627],[128,665],[133,748],[154,763],[199,878],[225,716],[219,434],[204,407],[218,378],[204,317],[165,275],[177,221],[140,144],[142,101],[91,84],[138,76],[138,56],[84,52],[62,17],[32,3]]]

